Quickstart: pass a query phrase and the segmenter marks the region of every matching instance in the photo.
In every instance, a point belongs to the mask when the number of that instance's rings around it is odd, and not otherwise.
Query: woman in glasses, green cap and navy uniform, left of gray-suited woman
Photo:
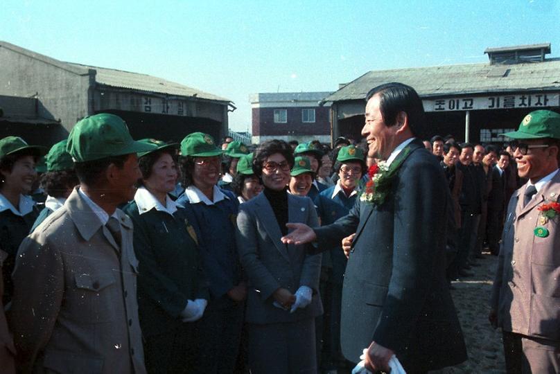
[[[239,202],[234,193],[216,186],[222,152],[213,138],[202,132],[189,134],[181,142],[185,191],[177,203],[191,207],[200,229],[200,257],[210,288],[198,332],[198,359],[204,373],[234,371],[247,295],[236,249]]]

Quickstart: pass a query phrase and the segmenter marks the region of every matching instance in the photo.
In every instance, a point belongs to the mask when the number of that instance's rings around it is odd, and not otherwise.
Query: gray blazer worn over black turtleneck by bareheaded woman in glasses
[[[288,221],[317,226],[311,199],[288,195]],[[249,279],[247,322],[290,322],[322,314],[318,292],[321,255],[308,254],[305,245],[281,242],[280,227],[264,193],[239,206],[236,235],[240,262]],[[306,308],[290,313],[272,305],[272,294],[279,287],[295,293],[301,285],[313,290],[313,300]]]

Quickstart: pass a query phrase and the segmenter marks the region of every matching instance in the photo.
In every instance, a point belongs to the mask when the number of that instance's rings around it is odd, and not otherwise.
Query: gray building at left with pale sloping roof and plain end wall
[[[64,139],[76,122],[101,112],[121,116],[135,139],[180,141],[203,131],[218,141],[227,134],[231,102],[213,94],[141,73],[62,62],[0,42],[0,95],[37,100],[35,116],[51,126],[20,136],[49,145]],[[3,111],[12,109],[4,106]],[[9,118],[0,121],[10,122]],[[58,123],[58,126],[52,123]],[[13,126],[0,127],[0,137]]]

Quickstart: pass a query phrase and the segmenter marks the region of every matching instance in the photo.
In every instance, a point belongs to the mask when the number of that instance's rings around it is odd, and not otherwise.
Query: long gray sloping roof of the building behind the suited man
[[[369,71],[325,101],[364,100],[387,82],[414,87],[422,97],[560,89],[560,59],[525,64],[461,64]]]

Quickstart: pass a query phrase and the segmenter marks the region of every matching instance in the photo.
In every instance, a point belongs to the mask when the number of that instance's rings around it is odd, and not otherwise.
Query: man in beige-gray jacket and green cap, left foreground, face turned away
[[[146,373],[136,299],[132,222],[119,204],[141,174],[123,120],[97,114],[67,150],[80,186],[21,243],[10,322],[24,373]]]

